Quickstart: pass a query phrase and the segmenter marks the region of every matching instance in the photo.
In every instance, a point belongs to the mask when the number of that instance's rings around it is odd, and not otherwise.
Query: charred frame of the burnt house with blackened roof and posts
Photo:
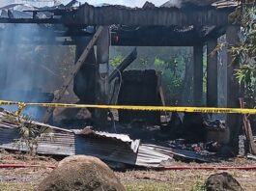
[[[171,1],[170,1],[171,2]],[[143,8],[103,5],[95,7],[87,3],[78,7],[56,6],[23,10],[27,17],[11,16],[10,10],[3,10],[0,23],[8,25],[38,25],[38,30],[45,32],[45,37],[24,37],[19,43],[61,44],[75,46],[75,65],[62,82],[52,102],[62,102],[61,98],[71,87],[78,97],[78,104],[105,105],[109,100],[109,81],[118,77],[119,73],[109,73],[109,47],[115,46],[190,46],[193,48],[193,106],[218,107],[218,84],[224,84],[226,105],[223,107],[239,107],[241,96],[240,85],[235,78],[238,65],[230,65],[233,55],[222,52],[226,56],[226,75],[219,78],[219,55],[211,54],[217,46],[218,39],[225,36],[228,46],[239,41],[240,26],[230,20],[237,4],[232,1],[181,1],[179,5],[172,3],[156,7],[147,2]],[[4,13],[4,14],[3,14]],[[6,28],[1,29],[5,33]],[[126,30],[129,29],[129,30]],[[47,32],[47,33],[46,33]],[[50,38],[47,35],[50,34]],[[17,38],[17,37],[15,37]],[[29,38],[29,41],[28,41]],[[15,41],[10,40],[15,43]],[[203,49],[207,48],[207,101],[203,105]],[[123,61],[119,72],[124,75],[118,95],[118,104],[122,105],[162,105],[161,95],[157,89],[156,72],[124,71],[135,59],[132,52]],[[1,65],[2,66],[2,65]],[[5,72],[1,69],[1,72]],[[38,71],[40,72],[40,71]],[[1,77],[2,75],[0,75]],[[1,92],[6,86],[0,81]],[[45,82],[51,83],[51,82]],[[44,96],[45,98],[45,96]],[[5,99],[10,99],[5,97]],[[29,98],[30,99],[30,98]],[[21,100],[30,101],[30,100]],[[48,99],[37,102],[48,102]],[[105,109],[89,109],[100,129],[105,130],[109,111]],[[53,109],[45,111],[43,123],[49,123]],[[114,118],[114,117],[112,117]],[[132,119],[144,119],[150,124],[160,124],[159,112],[119,111],[119,120],[131,123]],[[227,115],[226,125],[230,128],[229,144],[238,145],[240,118],[238,114]],[[196,128],[197,124],[195,124]],[[189,130],[189,129],[188,129]],[[198,129],[197,129],[198,130]],[[191,132],[194,129],[190,129]],[[195,132],[198,132],[195,130]],[[200,133],[199,129],[199,133]],[[189,134],[189,133],[188,133]],[[202,140],[201,140],[202,141]]]

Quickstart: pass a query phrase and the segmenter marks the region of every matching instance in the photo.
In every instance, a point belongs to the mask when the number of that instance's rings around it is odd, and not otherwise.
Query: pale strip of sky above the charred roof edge
[[[68,3],[70,0],[62,0],[63,3]],[[128,7],[142,7],[147,0],[79,0],[84,3],[87,2],[92,5],[99,5],[102,3],[115,4],[115,5],[126,5]],[[168,0],[148,0],[154,3],[156,6],[160,6]]]

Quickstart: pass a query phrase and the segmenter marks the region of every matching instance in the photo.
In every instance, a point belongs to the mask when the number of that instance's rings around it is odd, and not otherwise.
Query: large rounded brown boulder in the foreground
[[[43,179],[39,191],[125,191],[124,186],[99,158],[69,156]]]

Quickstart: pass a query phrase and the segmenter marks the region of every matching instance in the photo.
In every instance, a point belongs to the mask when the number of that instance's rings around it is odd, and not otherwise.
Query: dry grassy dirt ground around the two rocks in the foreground
[[[50,166],[56,166],[58,161],[44,156],[29,156],[20,153],[0,152],[1,164],[31,164],[42,167],[23,169],[0,169],[0,190],[17,191],[33,190],[37,184],[51,171]],[[255,161],[236,158],[233,161],[225,161],[211,166],[246,166],[253,165]],[[195,163],[185,164],[176,162],[175,166],[198,165]],[[200,164],[209,166],[210,164]],[[165,191],[165,190],[191,190],[201,191],[202,185],[207,177],[223,171],[153,171],[153,170],[128,170],[126,172],[115,172],[127,190],[138,191]],[[228,171],[235,177],[246,191],[254,191],[256,188],[256,171]]]

